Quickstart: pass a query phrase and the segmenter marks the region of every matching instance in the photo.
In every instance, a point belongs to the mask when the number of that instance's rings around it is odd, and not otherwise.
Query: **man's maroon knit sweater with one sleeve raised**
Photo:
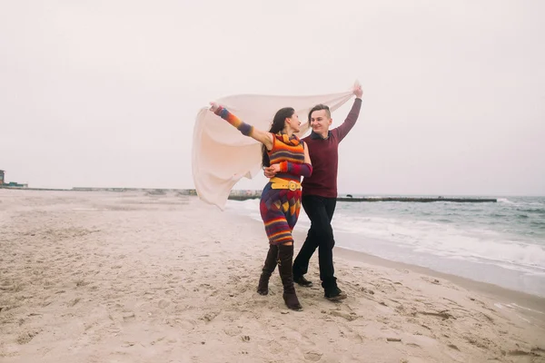
[[[337,171],[339,168],[339,142],[352,130],[358,120],[362,100],[356,98],[352,110],[341,126],[329,131],[327,139],[316,132],[302,139],[309,148],[312,175],[302,180],[302,195],[337,198]]]

